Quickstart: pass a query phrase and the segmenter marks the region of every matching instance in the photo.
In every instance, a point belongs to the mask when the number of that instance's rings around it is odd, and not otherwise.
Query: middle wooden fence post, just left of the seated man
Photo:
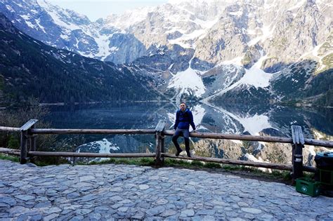
[[[155,138],[156,138],[156,156],[155,156],[155,165],[162,166],[164,163],[164,156],[161,153],[164,153],[164,134],[163,130],[165,127],[166,121],[159,121],[155,128]]]

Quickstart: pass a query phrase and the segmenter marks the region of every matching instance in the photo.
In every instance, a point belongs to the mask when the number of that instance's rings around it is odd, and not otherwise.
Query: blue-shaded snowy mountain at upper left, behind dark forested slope
[[[124,63],[145,53],[141,42],[103,20],[91,22],[85,15],[53,6],[44,0],[1,1],[0,10],[26,34],[44,43],[89,58]],[[119,53],[119,58],[114,58]]]

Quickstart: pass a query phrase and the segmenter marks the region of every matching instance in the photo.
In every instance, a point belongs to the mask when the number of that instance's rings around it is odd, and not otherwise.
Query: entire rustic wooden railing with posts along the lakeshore
[[[300,126],[292,126],[292,138],[281,138],[259,135],[228,135],[221,133],[190,133],[192,138],[211,138],[226,140],[248,140],[263,142],[281,142],[292,144],[292,164],[285,165],[279,163],[263,163],[252,161],[240,161],[234,159],[216,159],[211,157],[188,157],[175,156],[164,152],[165,136],[174,135],[174,130],[165,130],[166,121],[159,121],[155,129],[131,129],[131,130],[112,130],[112,129],[54,129],[54,128],[34,128],[38,120],[32,119],[25,123],[21,128],[11,128],[0,126],[0,132],[20,132],[20,150],[0,148],[0,152],[20,156],[20,163],[26,163],[28,160],[34,161],[35,156],[73,156],[73,157],[154,157],[156,166],[164,164],[164,158],[189,159],[195,161],[207,161],[215,163],[228,163],[242,166],[254,166],[262,168],[273,168],[278,170],[291,170],[293,178],[301,178],[303,171],[315,172],[315,168],[303,166],[302,149],[304,145],[315,145],[319,147],[333,147],[332,140],[314,140],[304,139]],[[129,154],[96,154],[96,153],[77,153],[77,152],[37,152],[35,137],[38,134],[155,134],[156,147],[155,153],[129,153]],[[28,149],[30,149],[28,151]]]

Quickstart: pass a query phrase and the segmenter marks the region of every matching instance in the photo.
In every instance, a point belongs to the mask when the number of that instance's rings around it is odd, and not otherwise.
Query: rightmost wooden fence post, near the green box
[[[292,179],[303,177],[304,137],[301,126],[292,125]]]

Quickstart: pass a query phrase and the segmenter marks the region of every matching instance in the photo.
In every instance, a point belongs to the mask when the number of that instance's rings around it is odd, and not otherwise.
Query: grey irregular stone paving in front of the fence
[[[0,220],[333,220],[333,199],[178,168],[0,160]]]

